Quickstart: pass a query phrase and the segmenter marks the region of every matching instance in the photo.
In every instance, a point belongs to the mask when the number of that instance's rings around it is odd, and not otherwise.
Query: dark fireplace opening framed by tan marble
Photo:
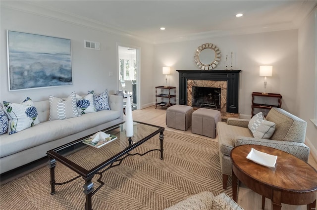
[[[192,107],[221,110],[221,88],[192,86]]]

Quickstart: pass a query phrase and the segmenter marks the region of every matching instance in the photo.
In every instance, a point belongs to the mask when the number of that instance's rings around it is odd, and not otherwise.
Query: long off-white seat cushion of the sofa
[[[105,110],[88,113],[77,118],[46,121],[14,135],[1,135],[0,157],[2,158],[91,127],[99,126],[120,116],[121,113],[119,111]]]

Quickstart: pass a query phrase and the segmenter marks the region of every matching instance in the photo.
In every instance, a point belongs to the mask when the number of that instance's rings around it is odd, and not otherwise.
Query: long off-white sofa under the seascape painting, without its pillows
[[[0,135],[0,173],[43,158],[55,147],[122,123],[123,97],[109,95],[108,103],[111,110],[50,121],[49,100],[34,102],[40,124]]]

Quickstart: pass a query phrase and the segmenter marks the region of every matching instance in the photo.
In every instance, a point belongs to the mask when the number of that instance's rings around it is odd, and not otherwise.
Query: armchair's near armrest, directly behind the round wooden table
[[[245,145],[245,144],[255,144],[255,145],[262,145],[267,147],[272,147],[278,150],[282,150],[287,152],[295,157],[308,162],[309,152],[310,149],[303,143],[298,142],[290,142],[290,141],[278,141],[278,140],[271,140],[271,139],[259,139],[259,138],[252,138],[252,137],[244,137],[238,136],[235,139],[234,146]]]

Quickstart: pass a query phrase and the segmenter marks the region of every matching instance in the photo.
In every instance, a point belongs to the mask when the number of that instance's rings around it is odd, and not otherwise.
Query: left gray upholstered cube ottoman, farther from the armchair
[[[173,105],[166,109],[166,126],[178,130],[187,130],[192,125],[193,107]]]

